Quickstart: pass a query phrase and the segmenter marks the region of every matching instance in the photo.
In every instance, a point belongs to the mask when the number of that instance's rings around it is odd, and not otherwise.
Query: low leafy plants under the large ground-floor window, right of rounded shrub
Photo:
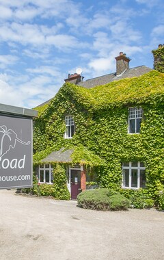
[[[148,190],[125,190],[121,189],[120,193],[131,201],[131,207],[136,209],[148,209],[154,206],[154,200],[150,198]]]

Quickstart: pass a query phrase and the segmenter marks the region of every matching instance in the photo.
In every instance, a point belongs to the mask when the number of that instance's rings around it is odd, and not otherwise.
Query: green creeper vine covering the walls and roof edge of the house
[[[141,106],[139,134],[128,134],[128,107]],[[65,83],[36,119],[33,133],[34,164],[52,151],[74,148],[72,159],[95,168],[100,187],[120,190],[122,162],[146,166],[146,192],[164,205],[164,75],[156,70],[86,89]],[[64,118],[72,115],[76,131],[64,139]],[[85,164],[85,163],[84,163]],[[147,197],[146,197],[147,199]]]

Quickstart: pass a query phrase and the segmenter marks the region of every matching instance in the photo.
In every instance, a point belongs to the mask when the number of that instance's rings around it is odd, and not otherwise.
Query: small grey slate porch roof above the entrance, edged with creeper
[[[55,151],[48,155],[46,158],[42,159],[43,163],[52,163],[52,162],[64,162],[64,163],[70,163],[72,162],[71,155],[73,153],[73,149],[68,149],[64,151],[64,148],[61,148],[59,151]]]

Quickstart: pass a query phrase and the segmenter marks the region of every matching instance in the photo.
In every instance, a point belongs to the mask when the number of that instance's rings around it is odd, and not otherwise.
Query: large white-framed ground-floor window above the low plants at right
[[[122,164],[122,186],[130,189],[139,189],[146,186],[145,166],[140,161],[124,162]]]

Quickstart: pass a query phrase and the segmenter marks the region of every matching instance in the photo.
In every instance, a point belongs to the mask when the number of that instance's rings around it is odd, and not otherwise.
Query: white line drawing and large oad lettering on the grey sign
[[[12,129],[7,129],[5,125],[0,126],[0,161],[2,160],[3,155],[7,154],[11,148],[15,148],[16,142],[24,145],[29,145],[31,143],[30,141],[24,142],[23,140],[20,140],[17,134]],[[12,161],[9,159],[3,159],[1,161],[1,167],[3,169],[7,169],[9,167],[12,169],[17,167],[20,169],[24,168],[25,157],[26,155],[23,156],[23,159],[12,159]]]

